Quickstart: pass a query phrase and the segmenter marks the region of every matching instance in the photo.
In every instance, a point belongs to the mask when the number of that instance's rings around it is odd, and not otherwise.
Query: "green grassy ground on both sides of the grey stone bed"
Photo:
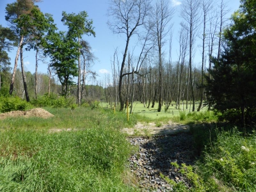
[[[190,186],[170,181],[173,191],[255,191],[256,134],[218,122],[212,111],[157,113],[134,104],[133,113],[107,104],[44,109],[54,116],[0,120],[0,191],[139,191],[129,173],[131,147],[123,127],[173,120],[191,126],[200,158],[173,164]],[[157,107],[156,107],[157,108]]]

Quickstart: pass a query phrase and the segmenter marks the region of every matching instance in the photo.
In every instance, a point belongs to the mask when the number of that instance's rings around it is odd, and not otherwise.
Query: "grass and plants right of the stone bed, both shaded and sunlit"
[[[174,191],[256,191],[256,133],[252,127],[245,133],[244,128],[218,122],[211,111],[182,112],[174,119],[191,126],[194,147],[200,154],[193,167],[177,165],[191,188],[169,180]]]

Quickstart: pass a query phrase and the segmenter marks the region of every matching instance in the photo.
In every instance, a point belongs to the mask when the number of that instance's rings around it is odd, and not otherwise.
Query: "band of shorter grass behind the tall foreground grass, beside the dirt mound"
[[[44,108],[54,115],[47,120],[38,117],[17,117],[1,120],[0,127],[23,129],[84,129],[90,127],[132,127],[136,124],[136,116],[129,122],[125,113],[116,113],[109,109],[92,110],[90,108]]]

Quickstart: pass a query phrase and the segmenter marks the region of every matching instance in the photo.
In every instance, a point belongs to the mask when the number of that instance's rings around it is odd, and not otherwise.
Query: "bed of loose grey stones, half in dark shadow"
[[[170,163],[193,164],[196,159],[193,152],[193,138],[188,133],[170,136],[152,136],[150,138],[128,138],[131,145],[139,145],[139,154],[129,158],[131,172],[139,181],[141,191],[173,191],[160,173],[175,182],[186,182],[179,169]],[[189,186],[189,183],[186,183]]]

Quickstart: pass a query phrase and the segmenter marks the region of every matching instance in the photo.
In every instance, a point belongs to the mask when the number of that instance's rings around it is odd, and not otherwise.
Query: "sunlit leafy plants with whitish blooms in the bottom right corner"
[[[237,129],[220,132],[198,162],[197,171],[204,182],[209,185],[211,180],[214,191],[255,191],[255,138],[255,133],[244,137]]]

